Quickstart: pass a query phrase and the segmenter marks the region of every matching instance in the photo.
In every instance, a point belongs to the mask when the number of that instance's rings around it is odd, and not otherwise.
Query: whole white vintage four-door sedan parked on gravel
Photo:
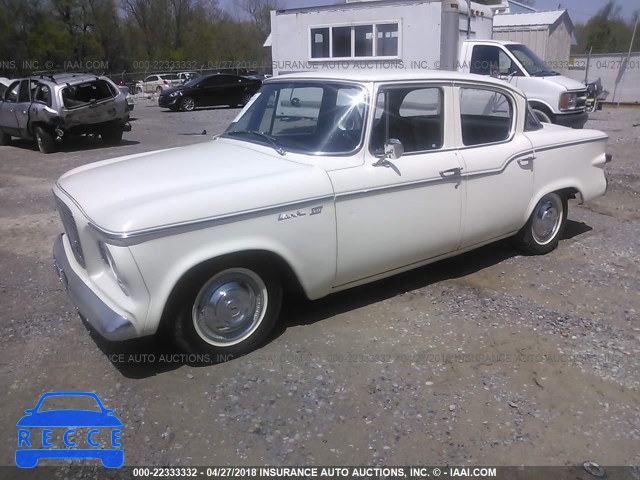
[[[484,76],[272,78],[211,142],[63,175],[55,262],[107,339],[167,329],[230,358],[285,289],[317,299],[506,237],[550,252],[567,199],[606,191],[606,139]]]

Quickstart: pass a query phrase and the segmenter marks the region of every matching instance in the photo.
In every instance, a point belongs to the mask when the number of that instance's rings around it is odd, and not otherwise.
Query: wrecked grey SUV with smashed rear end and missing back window
[[[126,93],[108,77],[85,73],[12,80],[0,94],[0,145],[35,140],[42,153],[68,136],[99,135],[105,144],[131,130]]]

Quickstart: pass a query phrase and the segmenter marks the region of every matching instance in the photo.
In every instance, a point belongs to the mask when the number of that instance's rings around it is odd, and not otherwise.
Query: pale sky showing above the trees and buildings
[[[233,9],[236,2],[220,0],[220,3],[227,9]],[[338,0],[284,0],[283,3],[285,8],[299,8],[344,2]],[[626,18],[631,18],[634,10],[640,9],[639,0],[617,0],[616,3],[622,7],[622,14]],[[538,10],[556,10],[558,6],[567,8],[573,23],[585,23],[605,4],[606,0],[536,0],[534,6]]]

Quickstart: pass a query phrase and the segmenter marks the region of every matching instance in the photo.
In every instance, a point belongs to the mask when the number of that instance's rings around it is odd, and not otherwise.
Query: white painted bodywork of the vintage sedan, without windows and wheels
[[[511,236],[547,193],[571,188],[583,202],[605,193],[607,136],[555,125],[525,132],[526,99],[500,80],[444,71],[333,72],[265,85],[329,81],[367,93],[363,142],[352,154],[281,155],[267,142],[222,137],[96,162],[58,180],[54,194],[73,214],[86,261],[77,261],[64,235],[70,268],[131,322],[127,338],[155,333],[183,275],[222,255],[271,252],[317,299]],[[381,167],[368,148],[376,94],[402,85],[442,89],[443,145]],[[508,139],[462,144],[461,87],[510,99]],[[108,245],[126,289],[99,242]]]

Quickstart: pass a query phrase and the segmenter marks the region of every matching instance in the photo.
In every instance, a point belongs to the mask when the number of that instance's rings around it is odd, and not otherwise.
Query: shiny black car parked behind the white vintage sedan
[[[197,77],[179,87],[164,90],[158,104],[183,112],[215,105],[242,106],[261,86],[262,82],[258,79],[218,73]]]

